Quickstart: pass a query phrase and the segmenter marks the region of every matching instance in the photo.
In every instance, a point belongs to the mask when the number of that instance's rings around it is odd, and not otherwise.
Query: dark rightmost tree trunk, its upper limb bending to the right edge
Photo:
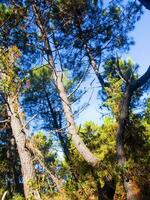
[[[147,71],[137,80],[129,80],[124,98],[121,104],[119,124],[117,130],[117,157],[118,157],[118,166],[123,169],[126,162],[125,151],[124,151],[124,136],[125,136],[125,127],[129,117],[129,107],[131,98],[134,92],[146,84],[150,80],[150,67]],[[124,187],[127,192],[127,200],[141,200],[142,195],[138,185],[132,181],[130,178],[127,178],[124,173],[122,173]],[[136,188],[136,189],[135,189]]]

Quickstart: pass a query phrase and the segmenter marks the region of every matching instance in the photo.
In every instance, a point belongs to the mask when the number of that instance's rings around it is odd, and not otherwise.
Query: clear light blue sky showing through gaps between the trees
[[[142,75],[150,65],[150,11],[144,10],[144,14],[140,21],[136,24],[134,31],[131,33],[134,38],[135,45],[131,47],[129,53],[125,57],[130,57],[140,65],[139,75]],[[85,102],[90,95],[90,92],[82,100]],[[83,111],[76,119],[77,124],[82,124],[85,121],[94,121],[99,124],[102,121],[97,99],[97,90],[95,90],[91,99],[90,106]]]

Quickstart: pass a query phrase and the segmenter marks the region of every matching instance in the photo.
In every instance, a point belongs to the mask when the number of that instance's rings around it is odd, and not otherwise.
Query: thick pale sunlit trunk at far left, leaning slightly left
[[[26,131],[20,119],[20,107],[18,100],[12,97],[7,98],[8,116],[10,117],[10,124],[12,133],[16,141],[19,158],[21,162],[21,171],[23,176],[24,194],[26,199],[34,196],[36,200],[40,200],[39,194],[29,186],[29,181],[35,180],[34,166],[30,151],[26,148]]]

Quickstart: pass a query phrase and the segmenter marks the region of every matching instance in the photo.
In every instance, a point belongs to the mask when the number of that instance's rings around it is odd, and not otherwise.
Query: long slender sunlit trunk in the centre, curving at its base
[[[91,151],[86,147],[86,145],[84,144],[84,142],[82,141],[80,136],[77,134],[75,121],[74,121],[72,111],[71,111],[71,105],[70,105],[69,99],[67,97],[67,93],[65,91],[64,85],[62,83],[62,74],[59,74],[57,72],[57,69],[55,68],[47,32],[45,30],[43,21],[40,17],[40,14],[38,12],[36,5],[32,4],[32,8],[33,8],[33,12],[36,17],[37,26],[39,27],[41,34],[43,35],[43,40],[44,40],[44,45],[45,45],[45,49],[46,49],[49,68],[52,71],[53,79],[54,79],[56,87],[58,89],[59,96],[62,100],[62,105],[63,105],[65,117],[67,120],[68,131],[70,133],[71,140],[72,140],[74,146],[77,148],[80,155],[83,156],[85,161],[92,167],[96,167],[99,164],[99,160],[91,153]]]

